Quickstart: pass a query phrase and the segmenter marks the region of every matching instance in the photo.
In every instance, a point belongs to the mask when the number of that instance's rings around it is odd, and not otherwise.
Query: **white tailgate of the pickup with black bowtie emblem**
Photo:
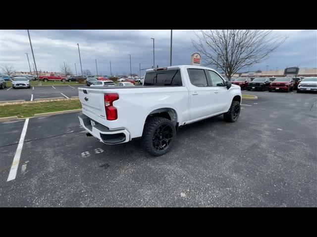
[[[106,118],[104,91],[102,89],[78,88],[83,114],[101,122]]]

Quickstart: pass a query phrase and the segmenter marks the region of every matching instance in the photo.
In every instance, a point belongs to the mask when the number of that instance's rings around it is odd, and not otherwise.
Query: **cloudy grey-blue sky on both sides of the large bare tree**
[[[307,68],[317,67],[317,31],[286,30],[274,31],[277,35],[290,34],[290,38],[280,46],[269,59],[250,68],[252,70],[284,69],[287,66]],[[80,74],[77,43],[80,46],[83,70],[89,69],[103,75],[130,73],[139,74],[141,68],[153,65],[153,40],[155,38],[155,64],[169,65],[170,30],[30,30],[33,50],[38,70],[59,72],[65,61],[75,74]],[[189,65],[190,56],[196,50],[191,39],[196,39],[193,30],[173,30],[173,65]],[[17,71],[29,71],[25,52],[33,58],[26,30],[0,30],[0,63],[12,65]],[[246,69],[248,70],[248,69]],[[143,71],[144,74],[144,71]]]

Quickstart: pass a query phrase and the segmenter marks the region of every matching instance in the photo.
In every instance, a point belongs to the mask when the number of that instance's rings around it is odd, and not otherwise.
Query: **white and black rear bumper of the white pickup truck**
[[[130,141],[130,133],[124,128],[110,130],[106,126],[94,121],[86,115],[78,116],[80,124],[83,128],[105,144],[119,144]],[[91,125],[91,120],[96,124]]]

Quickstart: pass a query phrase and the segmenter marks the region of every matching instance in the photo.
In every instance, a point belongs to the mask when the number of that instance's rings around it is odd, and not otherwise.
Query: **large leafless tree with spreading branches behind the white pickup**
[[[239,70],[261,63],[289,36],[271,35],[264,30],[200,30],[192,40],[206,65],[222,69],[231,80]]]

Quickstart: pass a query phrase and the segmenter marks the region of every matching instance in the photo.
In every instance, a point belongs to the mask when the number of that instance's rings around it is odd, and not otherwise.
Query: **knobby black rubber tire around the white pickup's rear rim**
[[[170,139],[170,143],[168,144],[168,147],[162,151],[158,151],[155,149],[155,146],[153,145],[153,137],[155,136],[157,129],[161,125],[165,125],[165,124],[170,127],[170,130],[172,131],[172,137]],[[162,118],[162,117],[154,117],[149,119],[145,123],[143,136],[142,136],[142,147],[146,152],[148,152],[152,156],[155,156],[155,157],[162,156],[171,149],[174,143],[175,137],[176,137],[176,128],[169,119]]]

